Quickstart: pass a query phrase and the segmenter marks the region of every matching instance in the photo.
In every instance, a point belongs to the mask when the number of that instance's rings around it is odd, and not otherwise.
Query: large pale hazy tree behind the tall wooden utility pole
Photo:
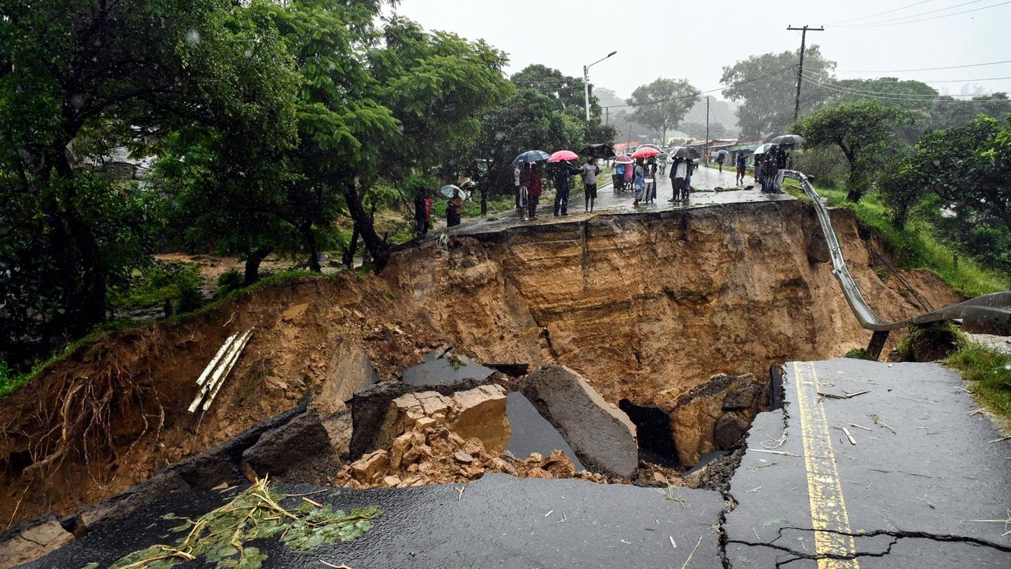
[[[724,89],[723,96],[742,102],[737,108],[737,124],[742,137],[757,140],[785,133],[793,122],[799,63],[800,51],[796,51],[751,56],[723,68],[720,82],[732,85]],[[805,75],[830,77],[834,69],[835,63],[822,57],[818,45],[805,51]],[[814,81],[805,82],[803,87],[801,116],[836,94]]]

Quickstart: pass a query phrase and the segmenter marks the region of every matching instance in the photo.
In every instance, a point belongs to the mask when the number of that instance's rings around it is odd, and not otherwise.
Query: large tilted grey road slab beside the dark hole
[[[579,374],[564,366],[542,366],[527,375],[523,392],[590,470],[622,478],[635,473],[635,424]]]

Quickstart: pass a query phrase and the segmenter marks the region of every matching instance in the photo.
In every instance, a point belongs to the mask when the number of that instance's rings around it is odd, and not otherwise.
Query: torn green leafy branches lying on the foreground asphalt
[[[372,530],[372,519],[381,513],[376,506],[345,513],[305,498],[287,509],[280,502],[289,496],[267,485],[266,478],[258,479],[231,502],[173,528],[176,533],[188,531],[175,546],[160,544],[135,551],[109,569],[169,569],[199,557],[218,569],[258,569],[267,556],[255,547],[245,547],[246,542],[279,535],[284,545],[307,553],[338,541],[357,540]],[[169,513],[163,518],[178,516]]]

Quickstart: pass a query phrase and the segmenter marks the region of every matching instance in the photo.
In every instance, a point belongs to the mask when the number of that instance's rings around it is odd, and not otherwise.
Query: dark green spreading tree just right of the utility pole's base
[[[895,153],[896,129],[912,117],[905,109],[863,100],[823,107],[802,117],[792,129],[808,147],[836,146],[842,151],[849,166],[847,199],[858,201],[878,165]]]

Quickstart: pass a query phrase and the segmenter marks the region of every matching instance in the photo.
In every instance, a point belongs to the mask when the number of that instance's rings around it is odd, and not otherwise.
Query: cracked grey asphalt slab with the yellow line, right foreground
[[[1008,443],[969,414],[957,374],[836,359],[789,364],[785,381],[731,480],[731,567],[1011,566],[1008,525],[978,521],[1009,516]]]

